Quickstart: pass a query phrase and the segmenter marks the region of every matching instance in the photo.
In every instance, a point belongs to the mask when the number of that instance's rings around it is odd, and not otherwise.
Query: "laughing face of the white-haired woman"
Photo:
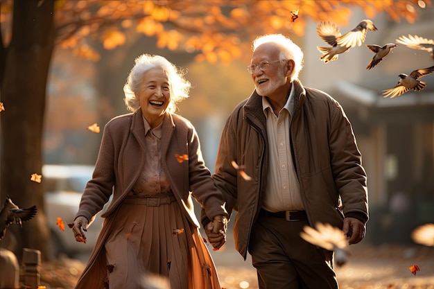
[[[139,95],[141,112],[151,128],[159,125],[171,101],[171,85],[166,71],[154,67],[143,75]]]

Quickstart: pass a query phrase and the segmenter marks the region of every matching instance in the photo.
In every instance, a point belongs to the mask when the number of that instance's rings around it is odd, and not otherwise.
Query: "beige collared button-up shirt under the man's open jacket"
[[[267,98],[262,98],[267,119],[268,181],[263,209],[267,211],[304,210],[289,141],[289,125],[294,112],[294,84],[284,108],[276,116]]]

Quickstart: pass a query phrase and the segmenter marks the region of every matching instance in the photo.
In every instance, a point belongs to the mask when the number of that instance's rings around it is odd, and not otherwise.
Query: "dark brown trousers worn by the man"
[[[300,237],[306,220],[260,216],[250,234],[249,253],[259,289],[338,289],[333,261]]]

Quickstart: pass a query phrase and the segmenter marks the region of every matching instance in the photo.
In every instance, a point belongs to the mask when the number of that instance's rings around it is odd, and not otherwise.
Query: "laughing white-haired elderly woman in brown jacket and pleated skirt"
[[[109,201],[103,228],[76,285],[141,288],[147,274],[171,289],[218,288],[214,262],[198,230],[192,195],[225,234],[223,197],[205,166],[195,128],[174,114],[190,83],[166,58],[141,55],[125,84],[132,114],[105,125],[94,174],[72,231],[85,241],[87,225]]]

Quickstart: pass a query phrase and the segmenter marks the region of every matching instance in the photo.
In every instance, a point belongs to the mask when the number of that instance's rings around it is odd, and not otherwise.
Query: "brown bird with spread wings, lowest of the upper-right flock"
[[[421,91],[426,87],[426,82],[419,81],[419,78],[422,76],[427,76],[428,74],[433,73],[434,66],[417,69],[410,73],[410,75],[406,75],[405,73],[399,74],[398,84],[391,89],[387,89],[383,91],[383,97],[394,98],[395,96],[400,96],[401,94],[405,94],[407,91],[413,89],[414,91]]]

